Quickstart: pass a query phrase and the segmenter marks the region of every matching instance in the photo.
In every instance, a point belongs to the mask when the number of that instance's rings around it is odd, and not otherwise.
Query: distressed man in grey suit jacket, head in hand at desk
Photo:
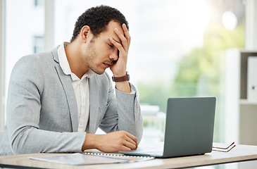
[[[124,15],[97,6],[77,19],[70,43],[20,58],[11,74],[0,155],[137,149],[142,115],[126,72],[129,46]],[[94,134],[98,127],[108,134]]]

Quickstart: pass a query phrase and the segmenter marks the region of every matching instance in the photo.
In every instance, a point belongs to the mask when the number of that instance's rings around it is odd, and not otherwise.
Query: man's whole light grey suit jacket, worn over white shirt
[[[11,73],[6,127],[0,155],[81,152],[86,134],[77,132],[77,102],[70,75],[58,61],[57,49],[24,56]],[[130,84],[136,91],[134,86]],[[125,130],[142,138],[142,115],[136,94],[113,88],[104,73],[89,78],[90,113],[86,132]]]

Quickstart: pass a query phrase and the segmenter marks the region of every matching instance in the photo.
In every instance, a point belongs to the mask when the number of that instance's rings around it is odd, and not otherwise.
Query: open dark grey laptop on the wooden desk
[[[215,103],[215,97],[168,99],[164,142],[119,153],[169,158],[211,152]]]

